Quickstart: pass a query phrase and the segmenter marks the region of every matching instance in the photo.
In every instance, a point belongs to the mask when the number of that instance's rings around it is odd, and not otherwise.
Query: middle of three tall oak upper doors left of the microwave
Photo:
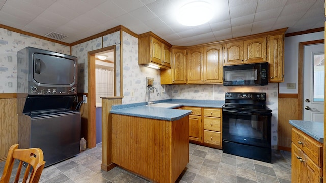
[[[188,83],[203,82],[203,48],[189,49]]]

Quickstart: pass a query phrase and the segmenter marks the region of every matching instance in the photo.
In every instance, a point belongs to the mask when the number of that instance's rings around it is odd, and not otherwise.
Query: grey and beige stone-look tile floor
[[[101,146],[87,149],[77,156],[44,168],[40,182],[150,182],[145,178],[115,167],[100,169]],[[222,150],[189,145],[189,163],[177,182],[187,183],[288,183],[291,182],[291,153],[273,150],[273,163],[225,154]],[[5,162],[0,162],[3,172]]]

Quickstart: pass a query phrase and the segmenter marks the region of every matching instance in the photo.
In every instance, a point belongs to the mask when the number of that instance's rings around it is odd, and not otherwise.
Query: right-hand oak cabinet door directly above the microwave
[[[244,63],[259,63],[267,60],[267,38],[250,39],[243,42],[244,44]]]

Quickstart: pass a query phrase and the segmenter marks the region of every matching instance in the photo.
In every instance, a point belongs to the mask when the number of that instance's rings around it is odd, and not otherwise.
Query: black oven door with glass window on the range
[[[271,147],[271,113],[223,109],[223,141]]]

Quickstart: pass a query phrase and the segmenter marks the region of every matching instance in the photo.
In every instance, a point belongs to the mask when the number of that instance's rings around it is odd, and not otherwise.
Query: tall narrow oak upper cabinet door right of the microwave
[[[283,34],[269,36],[269,82],[284,81],[283,37]]]

